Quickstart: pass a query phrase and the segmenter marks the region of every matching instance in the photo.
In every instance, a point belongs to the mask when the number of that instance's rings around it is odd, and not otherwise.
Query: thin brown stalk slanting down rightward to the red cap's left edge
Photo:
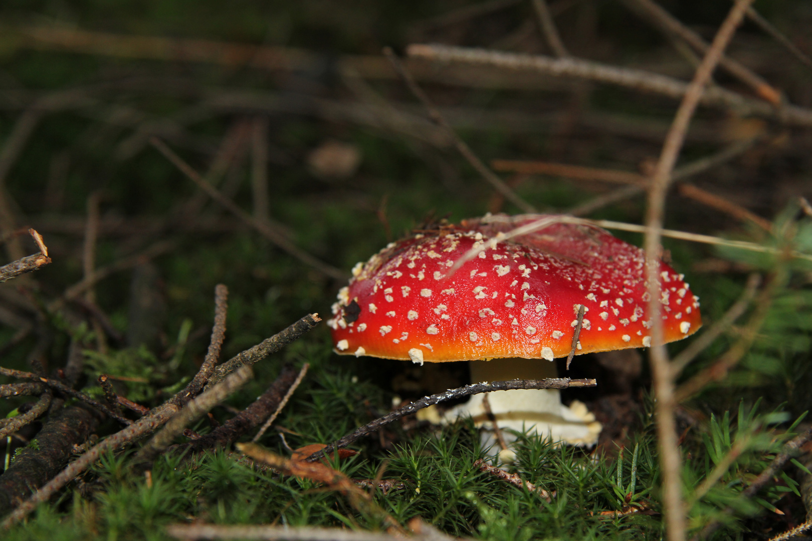
[[[310,255],[306,251],[297,247],[279,231],[278,227],[274,226],[270,221],[259,220],[256,217],[251,216],[240,208],[240,206],[234,201],[228,199],[225,195],[222,195],[215,187],[209,184],[209,182],[206,182],[196,170],[192,169],[191,165],[188,165],[188,163],[175,154],[175,152],[173,152],[171,148],[167,147],[166,144],[164,144],[161,140],[153,137],[149,140],[149,142],[153,145],[153,147],[157,148],[158,152],[161,152],[167,160],[171,161],[175,167],[177,167],[183,174],[192,180],[192,182],[197,184],[197,187],[199,187],[202,191],[205,191],[205,194],[209,195],[212,200],[217,202],[228,212],[234,214],[235,217],[238,217],[246,224],[251,225],[255,230],[261,233],[262,236],[270,240],[270,242],[276,244],[284,251],[287,251],[287,253],[293,255],[302,263],[315,268],[320,273],[326,274],[326,276],[333,277],[339,281],[347,280],[348,276],[341,270],[317,260],[315,257],[313,257],[313,255]]]

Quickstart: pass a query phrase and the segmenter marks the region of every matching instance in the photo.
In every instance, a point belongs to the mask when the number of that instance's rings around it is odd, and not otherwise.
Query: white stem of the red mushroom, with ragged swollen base
[[[499,381],[557,377],[555,363],[543,359],[493,359],[471,361],[471,381]],[[516,389],[487,393],[490,410],[503,432],[511,442],[515,436],[510,432],[528,432],[554,442],[574,445],[594,445],[598,442],[601,423],[595,420],[586,406],[573,401],[570,406],[561,403],[558,389]],[[476,394],[468,402],[456,406],[445,414],[445,422],[472,417],[477,427],[492,426],[482,406],[484,394]],[[494,440],[488,439],[488,443]]]

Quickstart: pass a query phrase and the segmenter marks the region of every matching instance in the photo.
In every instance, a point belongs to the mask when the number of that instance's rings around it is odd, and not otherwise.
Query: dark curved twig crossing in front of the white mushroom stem
[[[308,462],[313,462],[321,457],[329,455],[335,449],[341,449],[351,444],[353,441],[366,436],[378,430],[387,423],[401,419],[406,415],[413,414],[417,410],[429,407],[433,404],[438,404],[442,401],[451,400],[454,398],[467,397],[472,394],[490,393],[492,391],[508,391],[510,389],[567,389],[568,387],[594,387],[597,383],[595,380],[570,380],[569,378],[550,378],[547,380],[508,380],[508,381],[493,381],[491,383],[475,383],[465,385],[458,389],[448,389],[444,393],[433,394],[430,397],[423,397],[420,400],[413,401],[411,404],[395,410],[390,414],[386,414],[381,418],[375,419],[372,423],[365,424],[363,427],[356,429],[355,432],[343,436],[334,444],[327,445],[321,451],[313,453],[307,457]]]

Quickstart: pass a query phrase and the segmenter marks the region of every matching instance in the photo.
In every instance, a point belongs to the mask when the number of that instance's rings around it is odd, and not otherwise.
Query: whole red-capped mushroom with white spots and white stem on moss
[[[511,238],[540,218],[550,223]],[[489,216],[390,243],[356,264],[339,291],[328,321],[336,353],[419,364],[487,360],[472,363],[475,381],[555,377],[555,364],[539,359],[570,353],[581,307],[575,354],[650,346],[643,251],[564,220]],[[466,258],[472,249],[478,254]],[[702,324],[698,298],[668,264],[661,261],[659,271],[665,341],[679,340]],[[562,405],[557,390],[489,394],[499,427],[535,425],[539,435],[572,444],[597,440],[594,416],[580,403]],[[451,417],[485,423],[482,396]]]

